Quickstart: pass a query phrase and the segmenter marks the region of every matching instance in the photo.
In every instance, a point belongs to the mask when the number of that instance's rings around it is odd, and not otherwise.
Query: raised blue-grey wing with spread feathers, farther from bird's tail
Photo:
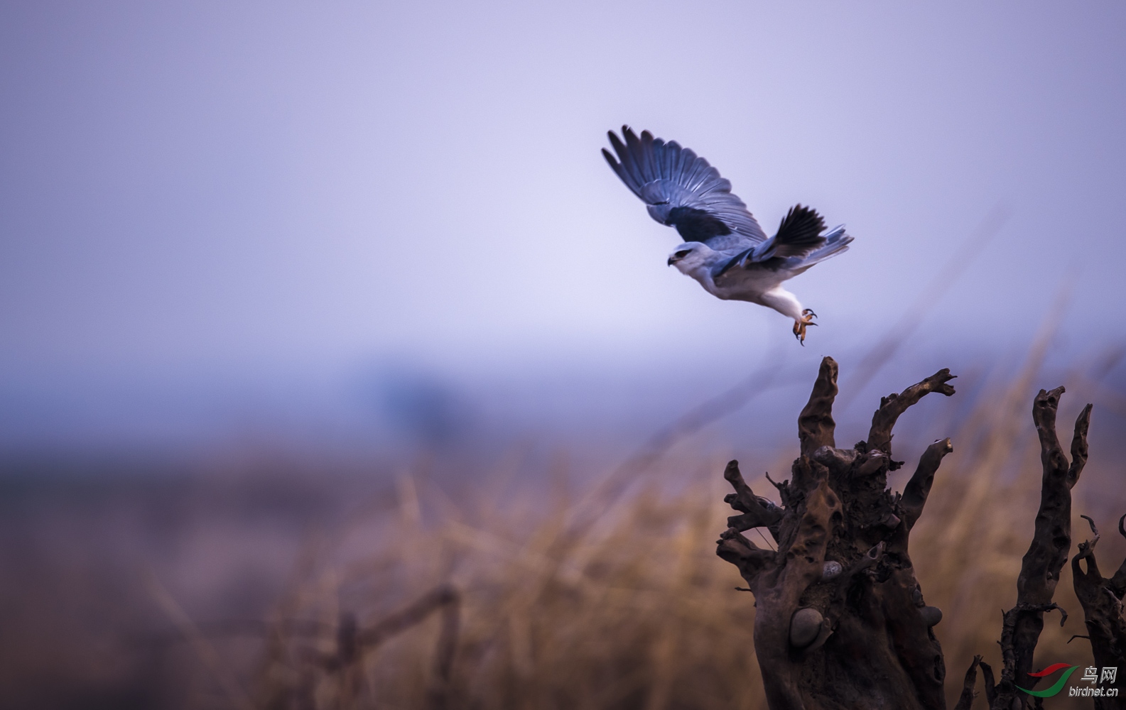
[[[732,195],[731,181],[706,160],[647,131],[638,138],[629,126],[622,126],[622,135],[625,143],[609,132],[618,159],[606,149],[602,155],[649,205],[653,219],[677,227],[686,242],[705,242],[720,252],[738,253],[767,241],[743,200]]]

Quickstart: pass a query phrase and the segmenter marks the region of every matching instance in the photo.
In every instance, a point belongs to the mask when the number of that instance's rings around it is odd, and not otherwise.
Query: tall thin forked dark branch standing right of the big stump
[[[1091,405],[1088,404],[1075,420],[1072,460],[1069,464],[1055,429],[1056,410],[1063,393],[1063,387],[1051,392],[1042,389],[1033,402],[1033,422],[1039,434],[1043,467],[1040,506],[1036,513],[1033,542],[1021,559],[1017,577],[1017,603],[1002,618],[1001,659],[1004,665],[1000,682],[994,685],[989,666],[980,659],[974,660],[974,665],[988,671],[985,692],[993,710],[1015,710],[1028,703],[1030,696],[1021,689],[1033,690],[1040,681],[1029,673],[1033,672],[1036,644],[1044,630],[1044,612],[1060,611],[1061,626],[1067,619],[1067,613],[1052,597],[1071,549],[1071,489],[1087,465]],[[966,681],[972,683],[968,673]],[[962,707],[960,701],[958,707]]]

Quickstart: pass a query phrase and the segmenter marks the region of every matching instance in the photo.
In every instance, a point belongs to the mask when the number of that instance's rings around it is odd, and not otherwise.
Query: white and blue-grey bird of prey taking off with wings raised
[[[665,143],[643,131],[641,137],[622,127],[609,132],[615,156],[602,149],[614,172],[640,197],[649,215],[677,227],[685,243],[669,266],[700,282],[717,298],[749,300],[794,320],[794,335],[805,344],[805,329],[816,314],[803,308],[783,282],[815,263],[848,251],[852,237],[844,225],[825,232],[816,210],[789,209],[778,232],[767,239],[747,205],[731,192],[720,171],[676,141]]]

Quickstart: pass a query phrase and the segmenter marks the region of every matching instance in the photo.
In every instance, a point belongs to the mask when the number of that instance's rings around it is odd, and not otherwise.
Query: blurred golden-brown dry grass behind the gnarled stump
[[[933,438],[951,435],[955,453],[939,470],[910,551],[927,603],[944,611],[936,633],[946,655],[950,705],[974,654],[1001,666],[1001,611],[1015,602],[1039,496],[1031,397],[1040,385],[1057,384],[1034,381],[1042,358],[1039,348],[1024,371],[977,397],[960,421],[932,424],[939,428]],[[1070,441],[1074,413],[1092,398],[1097,385],[1088,384],[1088,392],[1064,395],[1061,439]],[[1097,404],[1092,429],[1098,417]],[[787,477],[796,443],[795,435],[778,452],[770,468],[778,474],[775,479]],[[766,708],[752,642],[753,597],[735,590],[742,579],[715,556],[715,539],[732,514],[723,503],[729,492],[722,478],[725,457],[683,450],[689,448],[678,447],[634,470],[624,492],[596,484],[577,498],[561,482],[515,500],[502,495],[517,470],[500,473],[456,500],[404,475],[397,510],[357,515],[331,539],[310,542],[276,606],[274,630],[249,651],[245,641],[239,647],[238,653],[253,656],[251,665],[229,663],[226,655],[236,653],[231,641],[208,638],[177,611],[175,601],[163,599],[209,668],[197,675],[197,694],[186,703]],[[1126,494],[1106,483],[1120,480],[1109,469],[1114,455],[1092,444],[1087,473],[1073,491],[1072,554],[1090,537],[1079,515],[1097,515],[1105,533],[1098,549],[1103,574],[1117,568],[1126,551],[1112,534],[1118,515],[1126,512]],[[891,485],[901,487],[913,467],[909,459]],[[1096,478],[1103,484],[1088,489]],[[759,494],[774,492],[761,477],[751,485]],[[446,684],[436,673],[440,611],[336,665],[324,660],[340,651],[332,632],[298,633],[289,622],[319,620],[331,630],[348,612],[361,628],[370,627],[443,584],[453,585],[461,597]],[[1038,665],[1089,665],[1088,642],[1067,644],[1072,635],[1084,632],[1070,565],[1056,601],[1071,615],[1063,628],[1058,614],[1047,615]],[[1061,695],[1046,707],[1090,707],[1090,700],[1082,702]],[[984,707],[984,698],[975,707]]]

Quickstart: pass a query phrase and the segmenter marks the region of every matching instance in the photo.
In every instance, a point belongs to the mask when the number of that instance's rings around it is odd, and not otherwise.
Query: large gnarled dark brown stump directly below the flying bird
[[[788,482],[775,484],[779,509],[756,496],[738,462],[724,477],[735,489],[717,554],[739,567],[754,593],[754,648],[771,710],[946,707],[942,651],[931,627],[908,541],[922,514],[935,473],[953,450],[932,443],[903,495],[887,491],[892,428],[923,395],[953,395],[941,370],[881,402],[868,441],[837,449],[832,404],[837,363],[821,363],[798,417],[801,457]],[[777,551],[742,531],[768,528]],[[972,693],[972,690],[971,690]]]

